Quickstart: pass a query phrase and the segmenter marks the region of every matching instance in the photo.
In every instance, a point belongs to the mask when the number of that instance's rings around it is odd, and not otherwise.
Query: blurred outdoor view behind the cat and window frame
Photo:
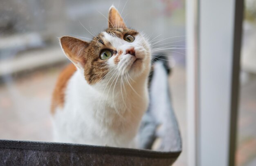
[[[187,165],[186,46],[184,0],[2,0],[0,1],[0,139],[52,141],[51,94],[69,63],[58,38],[92,38],[107,27],[114,4],[128,27],[150,37],[172,67],[172,103]],[[256,0],[245,1],[236,164],[256,165]],[[88,30],[86,30],[86,29]],[[81,38],[83,39],[83,38]]]

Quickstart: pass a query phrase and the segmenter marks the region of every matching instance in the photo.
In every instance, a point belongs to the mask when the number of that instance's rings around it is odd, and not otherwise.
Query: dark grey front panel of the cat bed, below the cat
[[[165,166],[180,152],[0,140],[0,166]]]

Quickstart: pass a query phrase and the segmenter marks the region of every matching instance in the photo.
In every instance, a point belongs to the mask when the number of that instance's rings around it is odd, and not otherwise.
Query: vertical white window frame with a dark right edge
[[[186,0],[188,165],[233,166],[243,0]]]

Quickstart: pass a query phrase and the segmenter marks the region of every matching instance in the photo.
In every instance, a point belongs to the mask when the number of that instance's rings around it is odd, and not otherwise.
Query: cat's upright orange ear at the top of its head
[[[113,5],[108,12],[108,28],[126,28],[123,18]]]

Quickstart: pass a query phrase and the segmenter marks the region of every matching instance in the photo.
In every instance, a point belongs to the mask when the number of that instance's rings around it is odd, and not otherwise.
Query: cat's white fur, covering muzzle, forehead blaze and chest
[[[54,141],[135,147],[141,117],[148,108],[149,45],[139,34],[133,43],[106,32],[104,37],[123,51],[121,60],[115,65],[115,56],[108,59],[108,74],[94,85],[85,81],[78,68],[67,83],[64,107],[54,114]],[[125,54],[130,47],[141,62],[135,64],[135,57]]]

